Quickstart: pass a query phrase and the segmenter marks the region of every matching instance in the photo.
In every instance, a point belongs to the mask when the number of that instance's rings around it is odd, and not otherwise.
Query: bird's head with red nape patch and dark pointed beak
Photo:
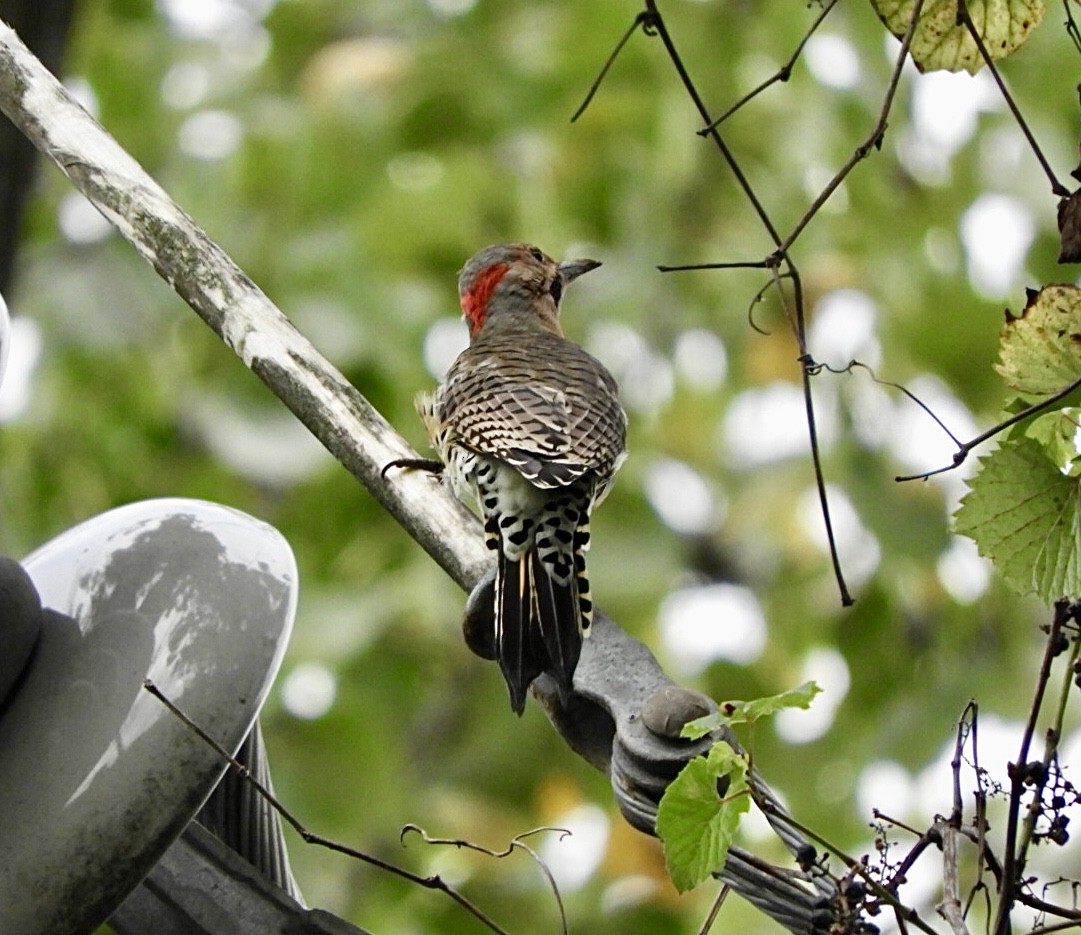
[[[488,321],[538,321],[556,334],[559,305],[570,283],[600,266],[596,259],[557,263],[530,243],[499,243],[472,256],[458,275],[458,298],[476,337]]]

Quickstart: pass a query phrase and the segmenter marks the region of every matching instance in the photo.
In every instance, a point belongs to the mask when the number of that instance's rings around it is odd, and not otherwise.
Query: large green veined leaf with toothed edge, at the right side
[[[1081,596],[1081,482],[1062,473],[1032,439],[1002,445],[955,516],[955,530],[1023,593],[1052,603]]]

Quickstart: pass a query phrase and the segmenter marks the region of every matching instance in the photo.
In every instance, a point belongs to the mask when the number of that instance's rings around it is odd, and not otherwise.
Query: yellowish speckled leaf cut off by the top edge
[[[916,0],[871,0],[886,28],[898,39],[908,30]],[[1043,0],[969,0],[969,15],[991,58],[1004,58],[1043,18]],[[957,0],[925,0],[910,52],[921,71],[967,71],[984,67],[979,49],[958,23]]]

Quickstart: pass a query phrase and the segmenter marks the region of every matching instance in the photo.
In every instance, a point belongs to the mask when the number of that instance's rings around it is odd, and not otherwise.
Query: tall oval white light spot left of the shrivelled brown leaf
[[[969,282],[987,298],[1015,291],[1036,237],[1032,213],[1007,195],[980,195],[961,215]]]

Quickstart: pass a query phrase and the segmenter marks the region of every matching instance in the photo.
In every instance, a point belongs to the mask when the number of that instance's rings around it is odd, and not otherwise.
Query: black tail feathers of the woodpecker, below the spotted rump
[[[510,707],[521,714],[533,680],[548,672],[565,702],[582,654],[578,588],[560,585],[535,551],[521,560],[497,551],[495,645]]]

